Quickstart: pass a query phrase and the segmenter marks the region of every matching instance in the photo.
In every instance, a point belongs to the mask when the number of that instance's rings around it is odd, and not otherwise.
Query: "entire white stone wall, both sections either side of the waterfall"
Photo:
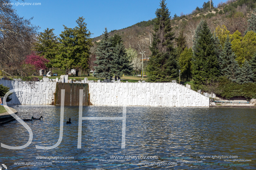
[[[34,82],[34,88],[23,81],[0,80],[0,84],[22,88],[11,95],[8,105],[50,105],[56,82]],[[209,98],[178,83],[88,83],[90,102],[100,106],[166,106],[209,107]]]

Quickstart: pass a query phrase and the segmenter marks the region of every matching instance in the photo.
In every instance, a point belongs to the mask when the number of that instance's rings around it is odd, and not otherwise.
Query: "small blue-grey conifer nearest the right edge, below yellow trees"
[[[252,67],[250,66],[249,62],[245,60],[245,62],[242,64],[241,68],[241,74],[237,79],[237,83],[243,84],[243,83],[252,83],[253,81],[253,72]]]

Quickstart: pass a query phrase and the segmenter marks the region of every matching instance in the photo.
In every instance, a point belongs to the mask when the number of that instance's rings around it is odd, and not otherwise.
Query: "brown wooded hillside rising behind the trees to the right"
[[[235,33],[238,30],[242,36],[245,35],[247,29],[247,20],[251,17],[251,14],[255,10],[256,0],[228,0],[225,3],[214,4],[214,0],[211,4],[206,2],[204,4],[198,4],[195,6],[190,14],[173,14],[172,26],[175,33],[175,37],[178,38],[179,33],[183,32],[186,40],[186,46],[188,48],[193,45],[193,36],[198,23],[205,19],[209,25],[212,33],[216,31],[216,28],[223,28],[229,31],[229,34]],[[148,21],[142,21],[127,28],[112,30],[110,35],[119,33],[123,39],[123,43],[126,48],[134,48],[138,52],[146,51],[146,57],[150,56],[149,46],[152,42],[154,19]],[[104,30],[102,30],[104,31]],[[101,36],[93,39],[94,45],[97,45],[101,40]],[[176,44],[176,42],[174,42]]]

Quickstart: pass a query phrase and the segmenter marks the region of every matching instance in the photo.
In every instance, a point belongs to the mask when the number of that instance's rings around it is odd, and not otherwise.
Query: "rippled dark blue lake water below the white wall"
[[[8,169],[256,169],[256,109],[127,107],[125,149],[121,149],[122,120],[82,120],[82,149],[77,149],[78,107],[64,107],[63,139],[50,150],[36,149],[35,145],[52,146],[58,141],[60,107],[21,105],[15,109],[21,119],[41,115],[43,119],[26,122],[33,141],[25,149],[0,147],[0,164]],[[83,117],[122,115],[123,107],[83,107]],[[72,124],[66,124],[68,118]],[[28,131],[16,120],[0,125],[1,143],[22,146],[28,139]],[[225,162],[220,156],[251,161]],[[25,165],[15,165],[17,162]]]

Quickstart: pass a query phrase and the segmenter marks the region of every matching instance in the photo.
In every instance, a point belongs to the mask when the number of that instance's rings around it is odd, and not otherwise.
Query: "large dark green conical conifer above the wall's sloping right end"
[[[207,22],[202,20],[195,31],[193,41],[193,79],[195,87],[220,75],[217,49]]]

